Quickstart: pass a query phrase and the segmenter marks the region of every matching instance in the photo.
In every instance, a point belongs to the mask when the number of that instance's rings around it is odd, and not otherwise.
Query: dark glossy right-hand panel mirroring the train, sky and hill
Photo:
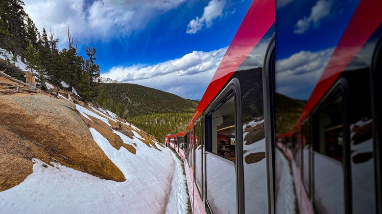
[[[381,213],[382,1],[294,0],[276,23],[275,210]]]

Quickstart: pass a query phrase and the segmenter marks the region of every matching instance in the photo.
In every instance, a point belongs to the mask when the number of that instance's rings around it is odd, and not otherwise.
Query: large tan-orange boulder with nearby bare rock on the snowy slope
[[[96,128],[116,149],[124,147],[135,153],[135,147],[123,144],[111,126],[132,138],[128,126],[89,120],[64,98],[45,92],[0,93],[0,191],[21,183],[32,172],[32,158],[57,162],[102,179],[124,181],[122,172],[89,131],[90,127]],[[146,140],[152,141],[151,136]]]

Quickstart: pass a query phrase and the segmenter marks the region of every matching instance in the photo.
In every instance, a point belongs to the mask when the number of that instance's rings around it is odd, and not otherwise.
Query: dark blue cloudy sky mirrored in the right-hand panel
[[[308,100],[359,0],[276,1],[276,91]]]

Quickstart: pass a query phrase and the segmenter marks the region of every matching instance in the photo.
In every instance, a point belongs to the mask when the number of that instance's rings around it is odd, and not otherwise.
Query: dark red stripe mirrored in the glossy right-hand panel
[[[381,8],[381,0],[361,0],[359,2],[356,12],[337,44],[318,84],[310,95],[310,99],[301,113],[296,128],[300,128],[302,121],[309,115],[313,107],[317,105],[329,88],[333,86],[338,76],[353,60],[378,26],[381,25]]]

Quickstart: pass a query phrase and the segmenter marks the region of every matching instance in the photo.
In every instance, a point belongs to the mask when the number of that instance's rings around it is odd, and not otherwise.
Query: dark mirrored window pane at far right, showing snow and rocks
[[[367,68],[347,77],[349,84],[350,166],[352,175],[353,213],[376,213],[375,159],[373,119]],[[377,142],[377,141],[376,141]]]

